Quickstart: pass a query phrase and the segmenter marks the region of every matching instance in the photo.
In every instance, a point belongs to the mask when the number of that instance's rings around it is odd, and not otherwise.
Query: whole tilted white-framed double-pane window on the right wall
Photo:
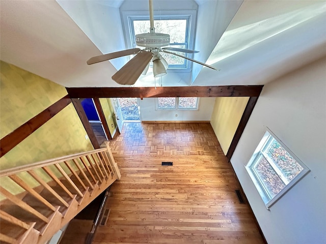
[[[269,130],[246,166],[267,209],[309,172]]]

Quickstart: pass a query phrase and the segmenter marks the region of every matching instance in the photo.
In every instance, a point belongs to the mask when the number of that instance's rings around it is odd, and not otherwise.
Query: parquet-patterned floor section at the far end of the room
[[[125,123],[110,146],[117,155],[223,155],[209,123]]]

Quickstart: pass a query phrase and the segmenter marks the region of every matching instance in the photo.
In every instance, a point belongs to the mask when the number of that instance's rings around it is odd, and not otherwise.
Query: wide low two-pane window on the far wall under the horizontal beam
[[[197,110],[198,98],[156,98],[156,109]]]

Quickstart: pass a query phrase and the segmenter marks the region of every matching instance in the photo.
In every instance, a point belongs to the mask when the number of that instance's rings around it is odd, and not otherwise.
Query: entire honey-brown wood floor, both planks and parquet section
[[[127,123],[110,145],[122,177],[94,244],[264,243],[209,123]]]

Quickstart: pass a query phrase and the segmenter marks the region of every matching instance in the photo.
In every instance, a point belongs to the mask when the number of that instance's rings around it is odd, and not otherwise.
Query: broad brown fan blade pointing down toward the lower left
[[[125,64],[112,79],[121,85],[133,85],[150,62],[154,54],[152,52],[141,51]]]

